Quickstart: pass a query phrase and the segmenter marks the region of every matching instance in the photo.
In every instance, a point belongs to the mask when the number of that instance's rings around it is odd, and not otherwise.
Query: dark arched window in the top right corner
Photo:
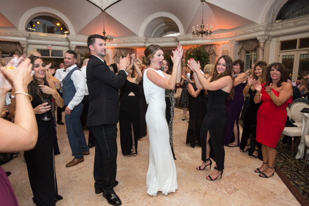
[[[309,0],[287,1],[276,17],[276,22],[309,14]]]

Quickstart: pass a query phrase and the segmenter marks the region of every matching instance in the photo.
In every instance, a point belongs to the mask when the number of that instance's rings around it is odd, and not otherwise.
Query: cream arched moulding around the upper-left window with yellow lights
[[[18,29],[21,30],[21,31],[24,31],[25,28],[27,27],[28,22],[31,19],[36,18],[38,16],[42,16],[42,15],[52,16],[56,19],[61,20],[61,22],[69,30],[70,34],[75,35],[75,30],[74,30],[74,27],[73,27],[72,23],[70,22],[70,20],[64,14],[62,14],[60,11],[57,11],[57,10],[49,8],[49,7],[36,7],[36,8],[32,8],[32,9],[26,11],[19,21]]]

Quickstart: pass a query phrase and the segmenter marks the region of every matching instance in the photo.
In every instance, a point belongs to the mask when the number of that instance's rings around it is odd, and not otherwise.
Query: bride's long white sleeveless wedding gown
[[[147,193],[164,195],[175,192],[178,188],[176,166],[171,151],[168,125],[165,118],[165,90],[147,78],[146,69],[143,75],[143,86],[146,102],[146,123],[149,135],[149,167],[146,177]],[[154,70],[154,69],[152,69]],[[160,70],[154,70],[164,78]]]

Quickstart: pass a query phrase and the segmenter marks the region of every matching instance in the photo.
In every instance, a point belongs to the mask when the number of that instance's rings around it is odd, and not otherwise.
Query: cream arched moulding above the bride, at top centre
[[[140,36],[140,37],[144,36],[145,29],[146,29],[147,25],[152,20],[160,18],[160,17],[167,17],[169,19],[172,19],[176,23],[176,25],[179,29],[180,35],[184,35],[184,27],[183,27],[182,23],[180,22],[180,20],[175,15],[168,13],[168,12],[158,12],[158,13],[150,15],[147,19],[145,19],[145,21],[142,23],[142,26],[141,26],[141,29],[139,31],[138,36]]]

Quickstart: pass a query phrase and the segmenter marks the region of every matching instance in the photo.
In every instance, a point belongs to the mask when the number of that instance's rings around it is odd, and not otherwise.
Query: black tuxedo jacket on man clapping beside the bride
[[[105,62],[90,55],[87,69],[89,110],[87,126],[117,124],[119,121],[119,92],[125,83],[125,70],[114,74]]]

